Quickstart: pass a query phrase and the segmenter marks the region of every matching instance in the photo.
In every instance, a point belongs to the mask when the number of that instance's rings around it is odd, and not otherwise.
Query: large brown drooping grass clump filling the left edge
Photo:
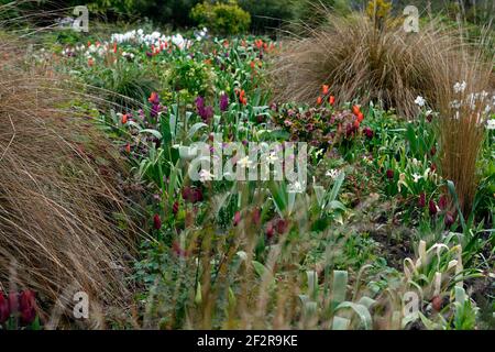
[[[74,99],[64,79],[23,66],[19,44],[0,44],[0,290],[35,290],[45,322],[55,301],[72,311],[77,290],[91,309],[122,307],[133,249],[122,160],[62,108]]]

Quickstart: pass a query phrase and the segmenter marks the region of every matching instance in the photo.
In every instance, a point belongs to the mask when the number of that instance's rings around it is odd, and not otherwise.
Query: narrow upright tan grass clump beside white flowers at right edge
[[[443,178],[455,185],[461,210],[472,211],[476,194],[476,161],[485,136],[486,119],[494,111],[493,63],[482,51],[463,52],[448,65],[451,80],[437,79],[436,106],[440,112],[438,139]],[[454,89],[454,82],[458,84]],[[465,85],[465,88],[461,89]]]

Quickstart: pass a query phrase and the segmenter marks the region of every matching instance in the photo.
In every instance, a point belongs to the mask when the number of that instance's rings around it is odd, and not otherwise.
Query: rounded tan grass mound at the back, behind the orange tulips
[[[433,80],[462,45],[435,21],[406,33],[400,21],[381,28],[362,13],[324,15],[321,26],[301,24],[301,35],[285,43],[272,70],[275,100],[315,105],[327,84],[338,102],[380,100],[413,117],[418,95],[436,100]]]

